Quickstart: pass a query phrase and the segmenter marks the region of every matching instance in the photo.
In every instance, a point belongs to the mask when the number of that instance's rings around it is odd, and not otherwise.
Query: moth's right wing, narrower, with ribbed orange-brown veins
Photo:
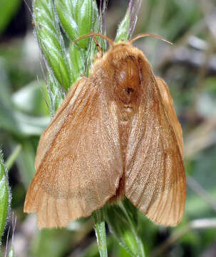
[[[155,223],[176,226],[186,196],[182,129],[162,79],[143,85],[142,99],[128,141],[125,196]]]

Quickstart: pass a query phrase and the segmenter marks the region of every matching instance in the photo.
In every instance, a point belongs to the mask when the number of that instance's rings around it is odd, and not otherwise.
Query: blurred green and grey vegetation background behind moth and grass
[[[98,1],[98,4],[100,1]],[[31,1],[27,1],[31,6]],[[114,39],[128,1],[108,1],[107,34]],[[138,213],[138,231],[146,256],[216,256],[216,4],[214,0],[143,0],[134,34],[165,37],[135,43],[163,77],[173,96],[185,141],[187,201],[176,228],[156,226]],[[11,213],[16,216],[16,256],[99,256],[93,221],[83,218],[63,229],[38,231],[36,216],[23,213],[26,189],[34,176],[39,136],[49,111],[44,100],[43,59],[21,0],[0,0],[0,143],[9,168]],[[21,150],[20,150],[21,149]],[[12,226],[12,215],[2,238]],[[129,256],[107,227],[108,256]],[[9,233],[9,245],[12,233]]]

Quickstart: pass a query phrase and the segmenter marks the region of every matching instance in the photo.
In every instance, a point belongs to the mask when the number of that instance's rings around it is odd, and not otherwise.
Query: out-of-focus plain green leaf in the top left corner
[[[6,26],[11,21],[11,18],[19,9],[21,0],[1,0],[0,1],[0,34],[6,29]]]

